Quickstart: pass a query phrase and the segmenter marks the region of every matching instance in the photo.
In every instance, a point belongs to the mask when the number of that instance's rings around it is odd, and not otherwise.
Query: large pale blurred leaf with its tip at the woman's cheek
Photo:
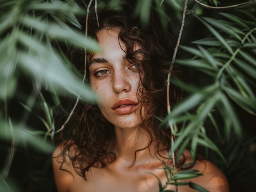
[[[76,75],[63,65],[61,59],[56,53],[45,52],[38,56],[31,54],[19,53],[19,63],[23,71],[32,77],[36,75],[38,81],[44,85],[48,85],[49,89],[54,89],[58,93],[68,95],[68,93],[84,100],[95,101],[96,95],[88,86],[84,86],[82,81]]]

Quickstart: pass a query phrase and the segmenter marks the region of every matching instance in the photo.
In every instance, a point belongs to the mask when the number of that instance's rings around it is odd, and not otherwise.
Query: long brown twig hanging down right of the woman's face
[[[171,114],[171,106],[170,106],[170,98],[169,98],[171,72],[173,71],[173,65],[174,65],[175,58],[176,58],[176,55],[177,55],[177,51],[178,51],[178,48],[179,48],[179,45],[180,45],[182,31],[183,31],[184,23],[185,23],[187,7],[188,7],[188,0],[185,1],[184,11],[183,11],[183,16],[182,16],[182,24],[181,24],[181,28],[180,28],[180,34],[179,34],[177,44],[176,44],[175,49],[174,49],[173,58],[172,58],[172,61],[171,61],[171,66],[170,66],[167,81],[166,81],[167,82],[167,111],[168,111],[168,114]],[[171,143],[173,144],[174,140],[175,140],[173,125],[170,124],[170,127],[171,127]],[[176,170],[175,170],[175,164],[176,163],[175,163],[174,152],[172,154],[172,159],[173,159],[173,167],[174,167],[173,175],[174,175],[176,173]],[[178,191],[178,186],[177,185],[175,185],[175,191],[176,192]]]

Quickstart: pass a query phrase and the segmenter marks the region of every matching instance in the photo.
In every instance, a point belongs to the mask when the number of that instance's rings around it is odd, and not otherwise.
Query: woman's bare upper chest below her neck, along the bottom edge
[[[166,177],[163,170],[156,169],[153,173],[164,184]],[[166,188],[167,190],[167,188]],[[174,190],[172,186],[168,190]],[[107,169],[92,168],[88,174],[88,181],[75,176],[71,192],[157,192],[159,191],[157,178],[146,172],[137,171],[111,171]]]

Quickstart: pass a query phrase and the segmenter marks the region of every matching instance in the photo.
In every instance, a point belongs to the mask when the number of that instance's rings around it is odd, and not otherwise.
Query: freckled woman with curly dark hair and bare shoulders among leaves
[[[62,134],[67,137],[53,158],[60,192],[156,192],[155,176],[166,183],[159,168],[162,162],[172,166],[168,161],[171,134],[159,127],[159,119],[167,114],[166,77],[173,41],[156,16],[146,27],[131,12],[129,7],[120,12],[99,11],[99,26],[95,18],[89,19],[89,35],[103,52],[88,53],[87,78],[101,101],[81,104],[70,122],[72,129],[65,128]],[[184,69],[174,66],[172,77],[184,76]],[[171,87],[171,104],[181,96],[181,90]],[[186,150],[176,166],[190,162]],[[209,161],[196,161],[193,169],[203,176],[180,182],[228,191],[225,176]],[[166,190],[175,190],[175,186],[168,185]],[[194,191],[188,186],[178,190]]]

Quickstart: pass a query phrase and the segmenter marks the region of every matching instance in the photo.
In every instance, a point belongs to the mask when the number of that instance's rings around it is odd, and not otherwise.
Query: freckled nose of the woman
[[[129,77],[123,71],[116,71],[112,76],[113,91],[115,93],[121,93],[122,91],[128,92],[131,89]]]

